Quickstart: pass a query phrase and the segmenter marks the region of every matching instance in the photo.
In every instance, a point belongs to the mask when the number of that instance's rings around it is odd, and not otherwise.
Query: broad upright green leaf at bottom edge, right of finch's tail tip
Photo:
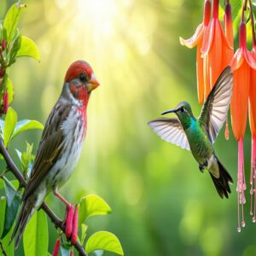
[[[23,235],[23,246],[26,256],[47,255],[48,253],[48,227],[45,212],[35,212],[26,224]]]

